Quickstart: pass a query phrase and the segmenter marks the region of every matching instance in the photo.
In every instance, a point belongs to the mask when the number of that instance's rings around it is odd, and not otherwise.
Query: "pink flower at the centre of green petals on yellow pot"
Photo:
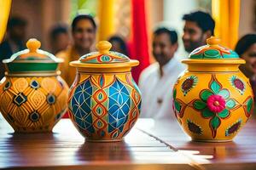
[[[213,94],[207,99],[207,107],[215,113],[223,111],[226,107],[225,99],[221,95]]]

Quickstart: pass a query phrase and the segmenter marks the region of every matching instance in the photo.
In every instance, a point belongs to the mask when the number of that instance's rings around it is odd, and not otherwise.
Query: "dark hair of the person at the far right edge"
[[[235,51],[238,55],[244,54],[253,43],[256,43],[256,34],[247,34],[236,43]]]

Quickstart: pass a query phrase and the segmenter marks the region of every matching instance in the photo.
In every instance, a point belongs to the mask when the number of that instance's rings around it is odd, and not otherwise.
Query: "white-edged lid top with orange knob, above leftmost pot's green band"
[[[26,48],[20,52],[13,54],[9,59],[3,59],[3,63],[61,63],[62,59],[58,59],[55,55],[39,49],[41,42],[35,38],[31,38],[26,42]]]

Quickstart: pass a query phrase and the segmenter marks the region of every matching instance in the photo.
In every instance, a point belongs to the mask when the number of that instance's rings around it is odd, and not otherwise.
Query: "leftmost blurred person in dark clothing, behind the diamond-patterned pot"
[[[11,17],[7,24],[7,37],[0,44],[0,79],[4,77],[3,59],[9,59],[12,54],[23,50],[26,38],[26,25],[25,19],[20,17]]]

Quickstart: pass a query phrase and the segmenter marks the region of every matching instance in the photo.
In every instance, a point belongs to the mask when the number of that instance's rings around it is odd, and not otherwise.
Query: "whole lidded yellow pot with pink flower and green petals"
[[[193,140],[230,141],[253,113],[253,90],[238,66],[245,60],[215,37],[182,62],[188,70],[173,88],[177,121]]]

